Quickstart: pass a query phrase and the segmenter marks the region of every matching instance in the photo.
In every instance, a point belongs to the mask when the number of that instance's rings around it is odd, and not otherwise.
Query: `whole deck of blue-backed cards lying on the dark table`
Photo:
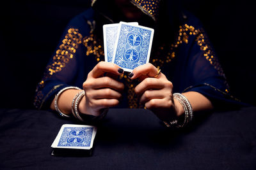
[[[53,141],[52,155],[90,155],[97,127],[64,124]]]

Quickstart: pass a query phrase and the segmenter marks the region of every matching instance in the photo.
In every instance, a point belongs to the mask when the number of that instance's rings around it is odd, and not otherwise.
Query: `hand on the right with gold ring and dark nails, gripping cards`
[[[140,97],[140,104],[152,110],[161,120],[172,120],[181,115],[184,110],[179,102],[173,100],[172,82],[152,64],[136,67],[129,75],[131,79],[139,78],[134,91]]]

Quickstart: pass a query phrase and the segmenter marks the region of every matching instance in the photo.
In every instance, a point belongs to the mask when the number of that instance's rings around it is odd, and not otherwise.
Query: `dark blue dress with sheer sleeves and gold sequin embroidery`
[[[189,13],[184,13],[184,16],[186,20],[182,20],[176,32],[172,33],[175,38],[170,43],[164,38],[164,43],[161,43],[161,39],[154,37],[150,62],[160,67],[172,81],[173,92],[199,92],[212,102],[214,108],[241,105],[230,95],[225,74],[202,24]],[[109,23],[99,20],[99,15],[89,8],[67,25],[44,77],[38,83],[36,108],[49,108],[56,93],[64,87],[82,88],[87,74],[100,60],[104,60],[102,25]],[[129,80],[127,74],[119,79],[126,89],[118,107],[138,108],[138,98],[134,94],[138,82]]]

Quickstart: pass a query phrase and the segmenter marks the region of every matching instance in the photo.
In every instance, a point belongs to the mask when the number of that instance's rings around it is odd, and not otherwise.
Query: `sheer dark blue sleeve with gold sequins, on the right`
[[[230,94],[218,57],[198,20],[180,26],[180,39],[174,75],[176,92],[199,92],[214,108],[248,106]]]

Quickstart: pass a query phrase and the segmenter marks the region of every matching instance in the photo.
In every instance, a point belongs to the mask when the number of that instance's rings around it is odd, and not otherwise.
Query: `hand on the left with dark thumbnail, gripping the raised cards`
[[[116,79],[123,73],[124,70],[116,64],[99,62],[83,83],[85,96],[79,103],[79,111],[98,116],[102,109],[118,105],[124,84]]]

